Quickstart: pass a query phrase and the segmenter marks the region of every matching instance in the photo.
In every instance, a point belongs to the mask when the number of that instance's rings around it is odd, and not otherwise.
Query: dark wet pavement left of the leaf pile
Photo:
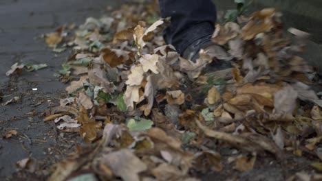
[[[64,24],[80,25],[88,16],[99,17],[107,12],[108,5],[116,3],[120,1],[0,1],[0,92],[5,96],[0,104],[0,180],[17,180],[14,173],[18,160],[30,156],[45,169],[75,145],[73,141],[65,141],[63,134],[57,135],[54,125],[43,121],[43,111],[58,106],[59,99],[64,97],[65,85],[56,80],[54,73],[61,69],[70,52],[52,52],[41,34],[53,32]],[[49,67],[6,77],[6,71],[15,62],[46,63]],[[19,100],[2,105],[12,97]],[[18,135],[4,139],[3,134],[9,130],[17,130]]]

